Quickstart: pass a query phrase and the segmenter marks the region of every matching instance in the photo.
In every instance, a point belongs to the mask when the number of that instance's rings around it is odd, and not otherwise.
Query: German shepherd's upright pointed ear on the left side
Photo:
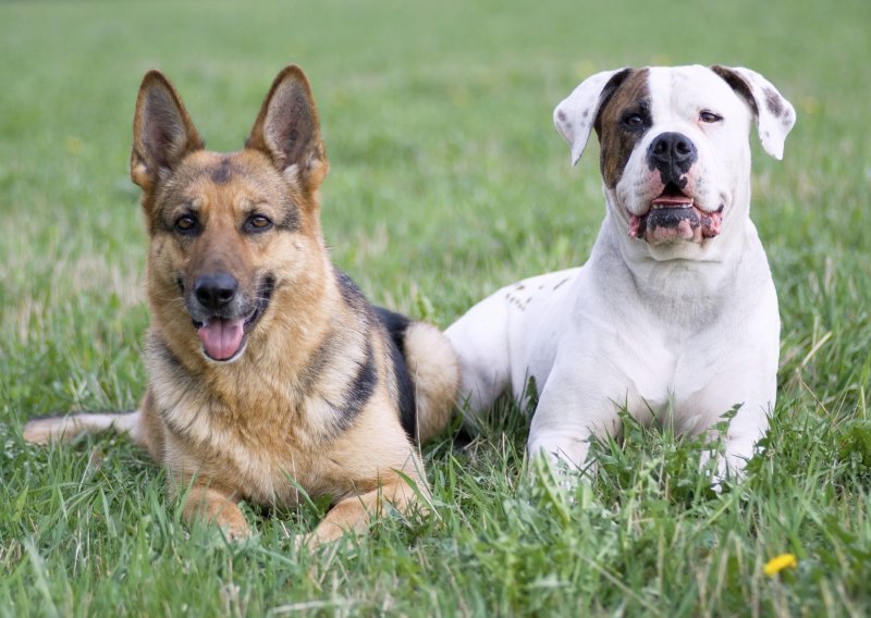
[[[201,149],[203,140],[175,88],[160,71],[146,73],[133,118],[133,182],[150,191],[186,154]]]

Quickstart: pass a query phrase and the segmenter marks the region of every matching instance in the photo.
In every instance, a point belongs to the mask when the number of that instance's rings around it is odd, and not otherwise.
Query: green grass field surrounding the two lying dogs
[[[585,4],[589,4],[585,7]],[[871,4],[806,0],[0,4],[0,615],[871,613]],[[143,73],[212,149],[272,77],[307,71],[332,169],[323,222],[370,299],[446,326],[502,284],[581,263],[604,207],[551,125],[592,72],[751,66],[796,106],[783,162],[753,137],[753,219],[783,319],[778,403],[747,480],[629,424],[566,502],[525,474],[525,411],[425,449],[438,516],[311,554],[322,505],[181,523],[124,438],[26,446],[32,415],[131,409],[148,312],[127,176]],[[535,474],[533,474],[535,477]],[[763,566],[792,553],[795,568]]]

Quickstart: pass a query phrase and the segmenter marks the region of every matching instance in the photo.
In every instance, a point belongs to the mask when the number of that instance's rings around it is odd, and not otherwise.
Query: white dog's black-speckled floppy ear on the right
[[[777,160],[783,159],[784,141],[796,123],[796,110],[792,103],[756,71],[743,66],[711,66],[711,70],[725,79],[753,110],[759,139],[765,152]]]

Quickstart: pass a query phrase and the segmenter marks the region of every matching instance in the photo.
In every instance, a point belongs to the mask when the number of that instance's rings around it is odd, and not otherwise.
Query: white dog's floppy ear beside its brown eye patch
[[[631,69],[617,69],[590,75],[553,110],[553,124],[568,141],[573,165],[577,164],[587,147],[602,101],[630,71]]]

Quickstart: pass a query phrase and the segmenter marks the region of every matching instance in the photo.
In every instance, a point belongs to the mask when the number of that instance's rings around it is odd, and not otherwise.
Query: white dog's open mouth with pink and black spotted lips
[[[629,213],[629,236],[650,245],[701,243],[720,234],[723,206],[713,212],[699,208],[691,197],[672,185],[650,202],[645,214]]]

